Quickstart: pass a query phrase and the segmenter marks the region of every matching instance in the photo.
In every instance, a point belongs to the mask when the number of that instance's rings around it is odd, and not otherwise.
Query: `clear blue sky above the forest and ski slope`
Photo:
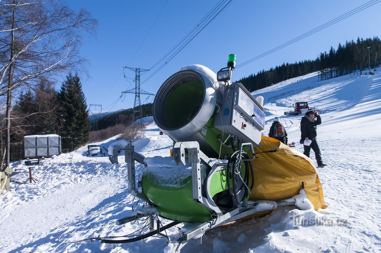
[[[150,68],[193,29],[218,0],[64,2],[74,10],[85,8],[99,21],[98,38],[85,37],[81,50],[82,56],[91,63],[91,78],[82,81],[83,91],[88,104],[102,104],[106,108],[104,111],[114,111],[131,108],[134,103],[134,95],[127,94],[124,102],[120,101],[112,108],[110,106],[118,99],[120,92],[130,86],[123,77],[123,66],[130,62],[129,67]],[[367,2],[234,0],[141,88],[156,94],[169,76],[190,64],[202,64],[217,72],[226,67],[229,54],[236,54],[237,64],[242,63]],[[377,3],[293,45],[234,70],[232,80],[239,80],[283,62],[315,59],[320,52],[328,51],[330,46],[336,48],[339,42],[356,40],[357,37],[380,37],[380,11],[381,3]],[[133,57],[156,18],[152,30]],[[126,70],[126,74],[130,78],[134,77],[132,71]],[[142,76],[141,81],[146,76]],[[130,88],[133,87],[131,85]],[[154,96],[141,96],[142,103],[152,102],[153,99]]]

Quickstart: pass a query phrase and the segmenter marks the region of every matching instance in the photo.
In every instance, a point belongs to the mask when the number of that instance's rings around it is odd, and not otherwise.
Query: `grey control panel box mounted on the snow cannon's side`
[[[215,116],[216,128],[259,146],[264,120],[262,105],[241,83],[224,87],[222,105]]]

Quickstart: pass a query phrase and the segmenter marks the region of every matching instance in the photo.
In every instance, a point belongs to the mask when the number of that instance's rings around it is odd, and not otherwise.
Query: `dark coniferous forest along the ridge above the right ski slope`
[[[320,53],[315,60],[286,64],[283,62],[282,65],[245,76],[237,82],[242,83],[249,91],[255,91],[317,71],[319,80],[357,72],[362,75],[363,71],[369,72],[369,63],[371,69],[381,63],[381,41],[378,37],[365,40],[357,38],[356,41],[346,41],[343,45],[339,43],[337,49],[331,46],[328,52]]]

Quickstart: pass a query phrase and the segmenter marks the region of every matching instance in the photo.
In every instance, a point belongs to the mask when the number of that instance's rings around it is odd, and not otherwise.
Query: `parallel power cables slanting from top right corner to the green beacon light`
[[[245,66],[245,65],[247,65],[247,64],[249,64],[249,63],[251,63],[251,62],[253,62],[255,60],[261,59],[262,57],[265,57],[265,56],[267,56],[267,55],[269,55],[271,53],[274,53],[274,52],[276,52],[276,51],[278,51],[278,50],[280,50],[282,48],[285,48],[286,46],[289,46],[289,45],[291,45],[291,44],[293,44],[293,43],[295,43],[295,42],[297,42],[299,40],[302,40],[303,38],[306,38],[309,35],[312,35],[312,34],[314,34],[316,32],[319,32],[320,30],[323,30],[323,29],[325,29],[325,28],[327,28],[327,27],[329,27],[329,26],[331,26],[333,24],[336,24],[337,22],[342,21],[343,19],[346,19],[346,18],[348,18],[348,17],[350,17],[350,16],[352,16],[352,15],[354,15],[356,13],[359,13],[360,11],[365,10],[365,9],[369,8],[370,6],[373,6],[373,5],[375,5],[376,3],[379,3],[379,2],[381,2],[381,0],[373,0],[373,1],[367,2],[367,3],[363,4],[363,5],[360,5],[359,7],[355,8],[355,9],[353,9],[351,11],[348,11],[347,13],[345,13],[345,14],[343,14],[343,15],[335,18],[335,19],[332,19],[331,21],[329,21],[329,22],[327,22],[327,23],[325,23],[323,25],[320,25],[320,26],[316,27],[315,29],[312,29],[309,32],[306,32],[306,33],[304,33],[304,34],[302,34],[302,35],[300,35],[300,36],[298,36],[298,37],[296,37],[296,38],[294,38],[294,39],[292,39],[290,41],[287,41],[286,43],[283,43],[282,45],[277,46],[276,48],[273,48],[273,49],[271,49],[271,50],[269,50],[269,51],[267,51],[267,52],[265,52],[263,54],[260,54],[260,55],[258,55],[256,57],[254,57],[254,58],[251,58],[250,60],[247,60],[247,61],[243,62],[242,64],[238,64],[235,68],[239,68],[239,67]]]

